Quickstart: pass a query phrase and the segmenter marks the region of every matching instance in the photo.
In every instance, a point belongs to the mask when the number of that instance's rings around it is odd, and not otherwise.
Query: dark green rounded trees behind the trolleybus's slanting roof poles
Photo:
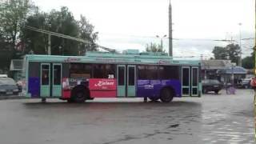
[[[33,26],[43,30],[50,30],[59,34],[66,34],[75,38],[82,38],[95,43],[98,33],[84,16],[80,21],[74,19],[67,7],[60,11],[51,10],[49,14],[37,11],[27,18],[26,26]],[[34,54],[47,54],[48,36],[31,30],[22,30],[22,39],[26,43],[26,53],[30,50]],[[56,55],[83,55],[86,50],[96,50],[96,45],[82,44],[73,40],[51,36],[51,53]]]

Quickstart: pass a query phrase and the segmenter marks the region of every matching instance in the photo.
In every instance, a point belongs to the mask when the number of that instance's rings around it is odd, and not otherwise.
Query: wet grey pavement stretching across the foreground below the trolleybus
[[[0,143],[254,143],[254,91],[147,102],[100,98],[0,101]]]

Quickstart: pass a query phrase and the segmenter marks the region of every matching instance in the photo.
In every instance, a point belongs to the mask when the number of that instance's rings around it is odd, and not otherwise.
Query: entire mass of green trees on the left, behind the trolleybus
[[[8,70],[10,59],[20,58],[30,50],[34,54],[47,54],[48,35],[27,30],[25,26],[50,30],[93,43],[88,45],[51,36],[52,54],[83,55],[86,50],[97,50],[95,42],[98,33],[94,32],[94,26],[84,16],[76,21],[67,7],[44,13],[31,0],[0,0],[0,69]]]

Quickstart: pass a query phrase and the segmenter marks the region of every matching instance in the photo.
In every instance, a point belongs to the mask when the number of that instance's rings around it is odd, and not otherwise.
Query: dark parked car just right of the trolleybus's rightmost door
[[[214,91],[215,94],[218,94],[222,90],[223,85],[218,80],[214,79],[204,79],[202,80],[202,93],[206,94],[209,91]]]

